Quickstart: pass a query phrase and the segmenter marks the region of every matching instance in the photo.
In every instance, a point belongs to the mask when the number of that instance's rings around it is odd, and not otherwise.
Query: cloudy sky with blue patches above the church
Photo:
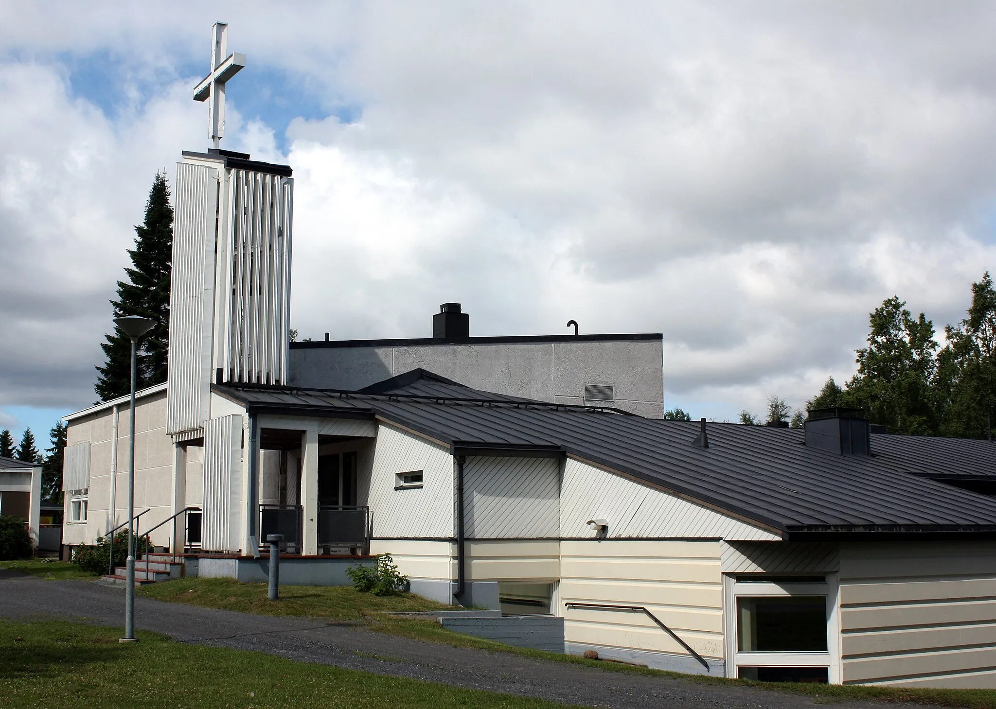
[[[805,5],[805,7],[803,6]],[[302,337],[659,332],[665,405],[802,406],[996,264],[991,2],[0,2],[0,426],[95,400],[157,170],[296,177]]]

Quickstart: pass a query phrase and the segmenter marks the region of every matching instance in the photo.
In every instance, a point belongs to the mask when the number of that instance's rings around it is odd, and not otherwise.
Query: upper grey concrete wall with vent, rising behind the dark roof
[[[290,383],[358,389],[416,367],[476,389],[556,403],[586,403],[585,384],[611,384],[610,405],[663,416],[660,340],[292,348]]]

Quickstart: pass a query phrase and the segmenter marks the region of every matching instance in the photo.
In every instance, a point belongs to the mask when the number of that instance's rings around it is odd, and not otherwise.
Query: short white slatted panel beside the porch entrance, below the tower
[[[201,548],[239,549],[239,500],[242,489],[242,415],[212,418],[204,424],[204,478]]]

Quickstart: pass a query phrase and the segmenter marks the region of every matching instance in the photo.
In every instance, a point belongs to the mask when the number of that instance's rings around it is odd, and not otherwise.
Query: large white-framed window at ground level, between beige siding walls
[[[835,575],[728,576],[727,676],[839,683]]]

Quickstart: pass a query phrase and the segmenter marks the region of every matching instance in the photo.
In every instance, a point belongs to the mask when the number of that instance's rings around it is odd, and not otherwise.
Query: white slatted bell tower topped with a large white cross
[[[200,435],[213,382],[283,384],[290,340],[294,180],[287,165],[218,147],[225,84],[245,66],[212,28],[211,69],[194,89],[209,102],[214,147],[176,163],[166,432]]]

